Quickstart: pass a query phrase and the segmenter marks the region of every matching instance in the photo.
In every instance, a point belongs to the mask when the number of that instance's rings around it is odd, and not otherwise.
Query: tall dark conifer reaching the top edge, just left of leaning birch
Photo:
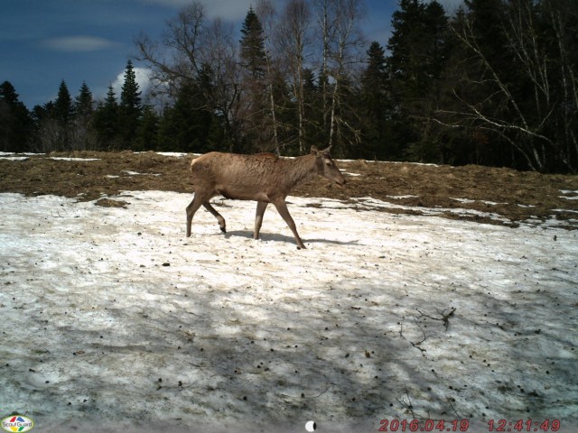
[[[398,143],[406,143],[412,161],[440,161],[439,128],[431,120],[439,106],[448,55],[448,23],[443,6],[433,1],[401,0],[393,14],[387,43],[390,91]]]

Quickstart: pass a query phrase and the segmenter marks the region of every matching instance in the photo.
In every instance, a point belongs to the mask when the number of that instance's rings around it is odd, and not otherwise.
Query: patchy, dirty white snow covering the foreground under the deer
[[[40,432],[578,427],[578,231],[290,198],[298,251],[273,207],[261,241],[255,203],[226,199],[228,234],[201,209],[186,239],[191,195],[112,199],[126,207],[0,194],[0,418]]]

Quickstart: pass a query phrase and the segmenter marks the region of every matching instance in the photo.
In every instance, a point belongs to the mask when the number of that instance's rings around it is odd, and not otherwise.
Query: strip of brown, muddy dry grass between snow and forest
[[[118,206],[117,200],[106,197],[124,190],[191,191],[188,168],[192,155],[70,152],[26,156],[26,159],[0,159],[0,192],[53,194],[80,201],[101,198],[98,205]],[[508,226],[528,221],[539,224],[555,218],[556,226],[578,228],[578,176],[474,165],[451,167],[360,160],[338,161],[338,165],[348,173],[346,188],[318,178],[294,189],[292,195],[345,201],[377,198],[396,205],[382,210],[400,214],[420,214],[422,208],[424,212],[428,208],[475,209],[505,219],[456,214],[450,210],[442,215]]]

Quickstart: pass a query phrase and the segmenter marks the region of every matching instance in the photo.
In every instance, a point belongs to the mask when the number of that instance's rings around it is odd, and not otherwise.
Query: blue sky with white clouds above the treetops
[[[122,86],[126,61],[141,32],[158,40],[167,20],[191,0],[7,0],[0,13],[0,82],[9,81],[32,109],[56,97],[63,79],[75,97],[83,81],[102,98]],[[202,0],[210,18],[240,29],[255,0]],[[284,0],[274,0],[281,9]],[[461,0],[443,0],[448,10]],[[385,47],[397,0],[366,0],[361,25],[368,41]],[[144,88],[145,65],[135,62]]]

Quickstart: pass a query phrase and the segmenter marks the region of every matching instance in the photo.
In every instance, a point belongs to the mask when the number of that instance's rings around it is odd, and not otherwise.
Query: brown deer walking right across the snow
[[[305,245],[293,217],[289,214],[285,198],[292,189],[315,176],[323,176],[338,186],[345,186],[345,179],[330,155],[331,146],[322,151],[312,146],[307,155],[294,159],[278,157],[273,153],[242,155],[237,153],[209,152],[191,161],[194,197],[187,206],[187,237],[191,236],[192,217],[200,206],[205,207],[217,218],[219,228],[227,233],[227,225],[210,199],[216,196],[238,200],[256,201],[255,231],[253,238],[259,239],[263,215],[269,203],[293,232],[297,249]]]

